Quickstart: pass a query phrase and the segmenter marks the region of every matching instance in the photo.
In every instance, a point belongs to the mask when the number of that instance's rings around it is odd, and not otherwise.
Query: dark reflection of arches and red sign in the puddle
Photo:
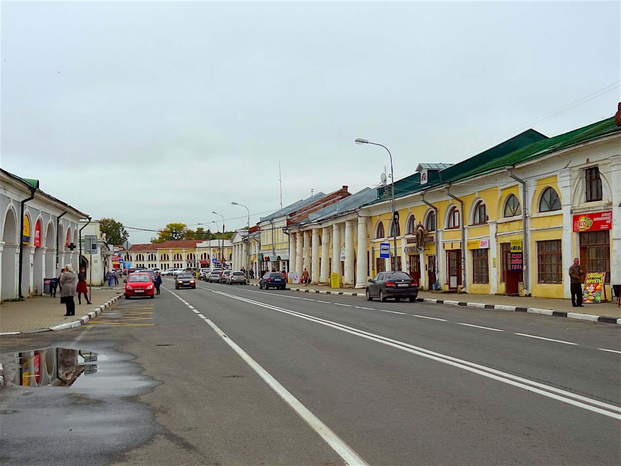
[[[97,353],[70,348],[47,348],[12,355],[7,377],[15,385],[70,386],[80,376],[97,372]]]

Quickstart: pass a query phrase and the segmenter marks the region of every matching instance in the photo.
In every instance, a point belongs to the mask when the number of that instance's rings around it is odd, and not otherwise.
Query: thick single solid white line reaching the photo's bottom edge
[[[356,452],[351,449],[349,445],[340,439],[337,434],[332,432],[330,427],[326,426],[320,421],[315,414],[311,413],[304,404],[302,404],[297,398],[282,386],[278,380],[271,376],[261,365],[259,365],[247,352],[239,347],[233,340],[227,337],[222,330],[220,330],[214,322],[209,319],[206,320],[207,324],[235,351],[253,370],[274,390],[278,395],[286,401],[296,413],[311,426],[319,436],[327,442],[332,449],[345,461],[348,465],[361,465],[366,466],[367,463]]]

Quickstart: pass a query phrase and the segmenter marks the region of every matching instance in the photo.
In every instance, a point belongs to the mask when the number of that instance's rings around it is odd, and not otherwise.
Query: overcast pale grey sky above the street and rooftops
[[[130,242],[614,115],[620,2],[0,2],[0,167]],[[559,110],[558,112],[555,112]],[[278,165],[281,164],[282,183]],[[388,170],[390,170],[388,168]],[[3,219],[2,219],[3,221]],[[215,229],[211,224],[212,229]]]

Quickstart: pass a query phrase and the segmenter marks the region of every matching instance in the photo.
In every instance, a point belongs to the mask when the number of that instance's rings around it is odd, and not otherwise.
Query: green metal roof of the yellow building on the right
[[[430,171],[428,174],[429,179],[424,185],[420,184],[420,173],[414,173],[413,175],[406,176],[406,178],[397,180],[395,183],[395,197],[430,190],[438,186],[451,185],[473,178],[473,176],[513,167],[519,163],[543,157],[556,150],[618,132],[621,132],[621,127],[616,126],[614,117],[555,137],[546,137],[533,129],[529,129],[499,145],[463,160],[463,162],[451,165],[444,170]],[[390,186],[379,188],[378,198],[366,205],[383,201],[384,190],[389,189]]]

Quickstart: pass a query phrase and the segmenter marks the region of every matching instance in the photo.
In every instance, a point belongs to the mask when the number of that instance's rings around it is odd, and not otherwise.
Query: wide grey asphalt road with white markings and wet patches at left
[[[621,464],[617,326],[163,286],[0,340],[100,355],[70,387],[0,392],[2,464]]]

